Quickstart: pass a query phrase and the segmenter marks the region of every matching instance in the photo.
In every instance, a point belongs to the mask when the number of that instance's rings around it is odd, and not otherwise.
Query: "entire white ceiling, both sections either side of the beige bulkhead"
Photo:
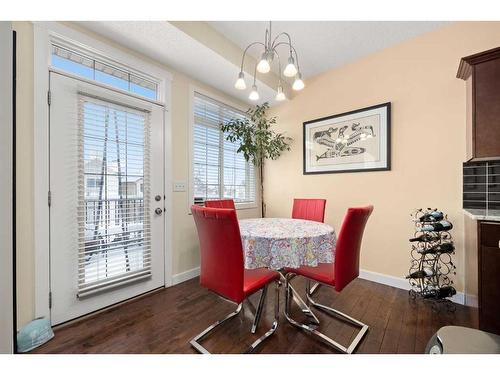
[[[80,26],[101,34],[150,58],[171,66],[243,102],[251,103],[248,90],[234,88],[239,67],[211,48],[166,21],[91,21]],[[242,49],[263,40],[267,22],[208,22],[219,33]],[[445,22],[367,22],[367,21],[276,21],[273,35],[286,31],[299,54],[304,78],[351,62],[406,39],[431,31]],[[258,58],[261,51],[251,50]],[[286,57],[286,49],[282,58]],[[247,84],[251,77],[247,75]],[[261,100],[274,104],[275,91],[257,82]]]

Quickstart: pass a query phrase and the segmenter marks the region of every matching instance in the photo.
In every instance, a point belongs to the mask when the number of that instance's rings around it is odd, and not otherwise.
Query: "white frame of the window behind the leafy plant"
[[[194,168],[193,168],[193,161],[194,161],[194,101],[195,101],[195,94],[201,94],[204,95],[210,99],[216,100],[218,102],[221,102],[222,104],[225,104],[229,107],[233,107],[234,109],[237,109],[241,112],[246,112],[248,108],[245,106],[235,103],[234,101],[228,100],[225,97],[221,97],[217,94],[214,94],[212,92],[209,92],[207,90],[204,90],[200,87],[196,87],[193,85],[190,85],[190,98],[189,98],[189,193],[188,193],[188,213],[191,214],[191,206],[194,204]],[[222,134],[222,133],[221,133]],[[222,136],[221,136],[222,137]],[[259,189],[259,174],[257,173],[258,170],[257,168],[253,165],[250,164],[251,167],[254,170],[254,181],[255,181],[255,201],[254,202],[242,202],[238,203],[235,202],[235,207],[236,210],[247,210],[247,209],[257,209],[259,208],[259,202],[260,202],[260,189]],[[224,169],[224,168],[222,168]],[[219,170],[220,170],[220,164],[219,164]],[[220,173],[219,179],[223,178],[223,172]],[[220,198],[222,199],[222,198]]]

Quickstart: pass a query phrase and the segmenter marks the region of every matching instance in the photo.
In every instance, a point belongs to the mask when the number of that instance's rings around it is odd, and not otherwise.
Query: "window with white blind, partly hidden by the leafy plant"
[[[238,153],[239,144],[225,140],[220,123],[245,113],[195,92],[193,125],[193,198],[230,198],[236,204],[256,203],[255,168]]]

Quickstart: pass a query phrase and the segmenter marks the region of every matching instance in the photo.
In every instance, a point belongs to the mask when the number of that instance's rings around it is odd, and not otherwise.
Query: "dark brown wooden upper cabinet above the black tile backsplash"
[[[462,58],[467,89],[467,160],[500,158],[500,47]]]

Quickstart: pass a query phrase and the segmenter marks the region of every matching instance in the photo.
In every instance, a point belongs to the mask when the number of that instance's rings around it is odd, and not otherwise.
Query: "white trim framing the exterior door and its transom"
[[[50,247],[49,247],[49,92],[50,41],[66,40],[96,51],[138,71],[148,72],[159,82],[159,102],[164,105],[165,142],[165,286],[172,285],[172,74],[121,49],[90,37],[57,22],[34,22],[34,252],[35,316],[50,317]]]

